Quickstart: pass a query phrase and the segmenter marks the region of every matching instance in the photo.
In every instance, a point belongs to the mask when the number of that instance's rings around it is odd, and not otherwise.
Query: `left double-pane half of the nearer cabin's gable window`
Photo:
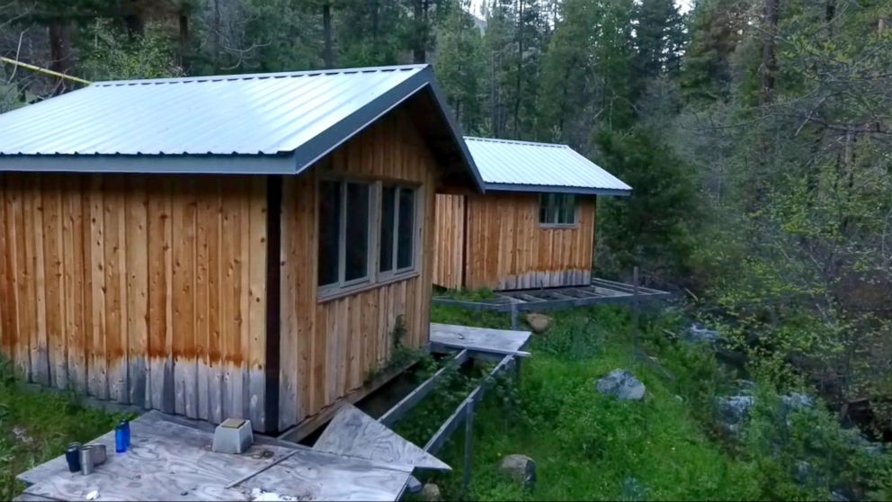
[[[370,219],[370,184],[319,183],[319,286],[369,280]]]

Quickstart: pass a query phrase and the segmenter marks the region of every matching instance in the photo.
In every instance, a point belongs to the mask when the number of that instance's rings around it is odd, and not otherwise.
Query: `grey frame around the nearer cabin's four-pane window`
[[[321,192],[320,186],[322,183],[336,183],[338,184],[339,191],[341,193],[341,206],[340,206],[340,219],[338,221],[338,232],[337,232],[337,282],[330,282],[328,284],[319,284],[318,283],[318,273],[314,280],[317,282],[317,301],[324,302],[328,300],[335,300],[337,298],[342,298],[344,296],[349,296],[351,294],[355,294],[360,291],[366,291],[374,288],[378,288],[380,286],[386,285],[389,282],[398,282],[404,281],[411,277],[418,275],[419,266],[421,265],[420,258],[420,250],[422,246],[420,245],[420,241],[424,235],[424,194],[421,190],[422,184],[413,184],[411,182],[405,181],[383,181],[380,179],[368,179],[362,178],[359,176],[350,176],[350,175],[323,175],[319,176],[317,179],[317,183],[315,186],[316,189],[316,201],[315,201],[315,210],[314,210],[314,225],[316,225],[316,238],[320,237],[320,231],[318,229],[319,225],[319,194]],[[369,236],[368,236],[368,249],[367,249],[367,270],[366,274],[363,277],[352,279],[350,281],[345,281],[344,277],[346,274],[346,230],[347,230],[347,184],[365,184],[369,187]],[[397,202],[394,206],[394,232],[393,232],[393,249],[391,253],[391,260],[393,269],[388,271],[380,270],[380,238],[381,238],[381,218],[383,215],[383,201],[384,201],[384,186],[393,186],[397,188],[396,198]],[[400,190],[411,190],[414,193],[414,205],[413,208],[413,216],[415,218],[414,224],[412,227],[412,249],[409,251],[410,256],[412,258],[412,264],[403,268],[397,269],[397,256],[398,256],[398,238],[399,232],[397,229],[397,225],[399,224],[399,191]],[[314,256],[317,260],[316,267],[319,266],[319,242],[316,243],[316,255]]]

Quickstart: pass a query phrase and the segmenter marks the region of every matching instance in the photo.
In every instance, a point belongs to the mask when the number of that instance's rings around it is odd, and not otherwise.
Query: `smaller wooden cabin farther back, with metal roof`
[[[495,291],[587,285],[597,197],[631,187],[566,145],[465,138],[485,194],[437,195],[433,283]]]

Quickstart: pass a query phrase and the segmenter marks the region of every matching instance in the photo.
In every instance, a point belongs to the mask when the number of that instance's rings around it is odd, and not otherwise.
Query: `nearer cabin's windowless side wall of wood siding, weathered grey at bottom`
[[[0,348],[32,382],[263,424],[265,184],[0,175]]]

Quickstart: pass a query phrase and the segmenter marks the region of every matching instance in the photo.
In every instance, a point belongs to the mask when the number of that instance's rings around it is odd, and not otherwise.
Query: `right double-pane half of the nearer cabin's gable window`
[[[381,273],[405,272],[415,265],[414,188],[381,188]]]

